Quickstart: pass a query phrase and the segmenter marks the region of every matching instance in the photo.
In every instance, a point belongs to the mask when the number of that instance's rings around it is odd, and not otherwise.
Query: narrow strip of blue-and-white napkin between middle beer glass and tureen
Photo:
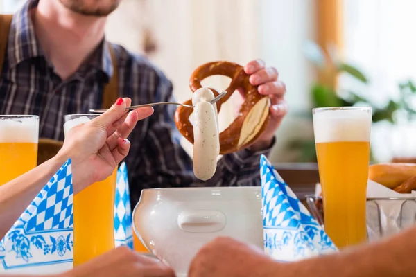
[[[114,199],[114,238],[116,247],[127,245],[133,249],[132,212],[125,163],[121,163],[117,171],[116,196]]]

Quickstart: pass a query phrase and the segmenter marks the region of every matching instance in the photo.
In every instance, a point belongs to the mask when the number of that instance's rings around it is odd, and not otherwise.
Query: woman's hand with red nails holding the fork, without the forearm
[[[110,176],[128,154],[130,141],[126,138],[137,121],[153,114],[152,107],[126,114],[130,103],[130,98],[119,98],[104,114],[66,134],[58,155],[71,158],[74,193]]]

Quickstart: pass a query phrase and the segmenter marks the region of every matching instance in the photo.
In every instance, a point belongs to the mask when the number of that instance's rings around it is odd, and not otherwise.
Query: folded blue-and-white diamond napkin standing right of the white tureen
[[[266,253],[292,262],[338,251],[306,207],[261,156],[263,238]]]

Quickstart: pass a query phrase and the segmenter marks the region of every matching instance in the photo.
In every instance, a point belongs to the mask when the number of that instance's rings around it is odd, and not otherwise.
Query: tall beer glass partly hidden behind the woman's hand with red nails
[[[98,115],[65,116],[65,133]],[[71,120],[71,122],[69,122]],[[114,197],[117,168],[104,181],[92,184],[73,197],[73,266],[114,249]]]

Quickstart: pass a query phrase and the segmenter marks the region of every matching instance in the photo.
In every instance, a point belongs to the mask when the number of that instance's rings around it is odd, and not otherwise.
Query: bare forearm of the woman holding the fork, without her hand
[[[0,186],[0,238],[6,235],[12,224],[65,161],[67,161],[66,155],[58,154],[24,175]]]

